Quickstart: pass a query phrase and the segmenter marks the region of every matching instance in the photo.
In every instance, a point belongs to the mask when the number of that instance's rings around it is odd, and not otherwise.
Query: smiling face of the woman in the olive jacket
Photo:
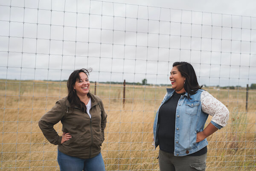
[[[76,95],[80,98],[89,93],[90,81],[84,72],[80,72],[79,77],[80,79],[76,81],[74,89],[76,90]]]

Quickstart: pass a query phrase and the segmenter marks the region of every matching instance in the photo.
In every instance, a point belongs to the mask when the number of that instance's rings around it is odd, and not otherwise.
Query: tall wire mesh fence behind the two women
[[[90,91],[108,113],[106,170],[159,170],[153,121],[175,61],[190,62],[199,84],[230,110],[227,127],[207,138],[207,170],[255,170],[255,35],[255,17],[97,0],[0,1],[0,170],[59,169],[38,120],[67,96],[70,73],[88,67]],[[55,129],[61,134],[61,123]]]

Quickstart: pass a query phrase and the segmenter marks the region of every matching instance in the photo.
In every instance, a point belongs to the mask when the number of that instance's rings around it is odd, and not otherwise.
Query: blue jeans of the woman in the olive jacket
[[[90,159],[80,159],[68,156],[58,150],[58,164],[61,171],[105,171],[101,153]]]

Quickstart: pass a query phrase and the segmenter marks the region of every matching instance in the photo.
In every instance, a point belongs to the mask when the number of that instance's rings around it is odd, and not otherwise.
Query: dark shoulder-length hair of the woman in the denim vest
[[[188,93],[188,99],[191,99],[190,95],[195,94],[198,89],[203,87],[198,84],[194,68],[187,62],[175,62],[172,67],[177,67],[181,75],[186,78],[184,89]]]

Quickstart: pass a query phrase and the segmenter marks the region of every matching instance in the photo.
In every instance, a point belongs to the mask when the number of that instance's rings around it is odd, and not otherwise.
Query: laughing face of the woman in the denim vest
[[[178,68],[175,66],[172,68],[170,80],[172,83],[172,88],[176,91],[176,93],[184,93],[184,81],[186,80],[185,77],[183,77],[178,70]]]

